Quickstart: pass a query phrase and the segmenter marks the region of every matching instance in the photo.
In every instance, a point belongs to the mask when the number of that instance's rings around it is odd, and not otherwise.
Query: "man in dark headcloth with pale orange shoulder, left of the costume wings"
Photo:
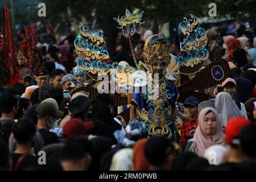
[[[28,86],[26,88],[24,98],[30,99],[30,97],[35,89],[37,89],[43,85],[47,85],[49,82],[49,73],[46,68],[41,67],[41,68],[36,69],[35,76],[36,76],[35,80],[36,80],[37,84]]]

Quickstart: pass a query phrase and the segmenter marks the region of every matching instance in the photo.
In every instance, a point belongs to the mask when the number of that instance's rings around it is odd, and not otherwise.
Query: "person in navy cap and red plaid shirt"
[[[187,97],[184,101],[185,114],[188,119],[180,127],[180,151],[183,150],[188,139],[192,138],[192,134],[197,127],[197,106],[199,100],[196,97]],[[190,136],[191,135],[191,136]]]

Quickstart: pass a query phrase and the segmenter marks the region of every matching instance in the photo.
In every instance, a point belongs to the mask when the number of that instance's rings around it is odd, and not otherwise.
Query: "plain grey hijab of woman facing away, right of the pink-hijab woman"
[[[238,109],[237,105],[232,100],[230,94],[226,92],[220,92],[215,98],[215,107],[219,113],[220,121],[222,126],[226,127],[226,123],[230,118],[237,116],[242,116],[241,111]]]

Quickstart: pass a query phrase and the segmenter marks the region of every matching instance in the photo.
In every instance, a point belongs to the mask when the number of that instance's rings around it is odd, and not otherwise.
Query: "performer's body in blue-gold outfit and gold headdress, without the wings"
[[[168,80],[168,65],[176,63],[176,57],[170,54],[171,42],[163,34],[153,35],[144,46],[145,63],[148,69],[146,93],[133,93],[130,119],[140,118],[147,124],[149,136],[164,135],[177,140],[177,129],[172,119],[171,105],[175,105],[178,90],[172,80]],[[179,68],[177,65],[176,69]],[[144,74],[144,76],[147,76]],[[158,77],[158,78],[156,78]]]

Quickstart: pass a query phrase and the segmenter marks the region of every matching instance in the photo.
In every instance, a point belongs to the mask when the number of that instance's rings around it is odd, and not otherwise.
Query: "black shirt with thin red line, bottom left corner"
[[[22,157],[23,156],[23,157]],[[13,159],[13,170],[17,167],[16,170],[18,171],[24,171],[24,170],[31,170],[35,167],[37,167],[38,164],[38,158],[34,155],[23,155],[23,154],[11,154],[11,158]],[[23,158],[23,159],[22,159]],[[18,161],[20,160],[20,161]],[[19,162],[19,164],[17,164]]]

